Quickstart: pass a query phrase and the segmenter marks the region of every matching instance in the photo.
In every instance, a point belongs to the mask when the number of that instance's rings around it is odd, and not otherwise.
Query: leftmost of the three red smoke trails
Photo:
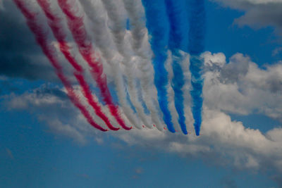
[[[97,125],[97,123],[94,122],[92,119],[90,113],[87,111],[85,106],[83,106],[80,103],[80,100],[78,99],[78,96],[75,95],[74,89],[71,86],[71,82],[68,81],[68,79],[63,75],[63,70],[61,68],[61,65],[59,65],[59,62],[57,61],[56,57],[54,56],[53,49],[50,48],[50,46],[47,44],[47,39],[45,37],[44,31],[42,30],[42,27],[38,24],[36,18],[37,13],[33,13],[32,11],[28,10],[28,8],[25,6],[24,1],[25,0],[13,0],[15,4],[18,6],[20,11],[23,13],[27,20],[27,25],[30,27],[30,30],[35,35],[35,38],[37,40],[37,43],[39,46],[41,46],[41,49],[45,56],[49,59],[51,65],[56,69],[56,74],[60,78],[61,82],[63,83],[64,87],[66,87],[68,97],[71,99],[73,104],[80,109],[80,112],[85,116],[88,123],[90,123],[93,127],[97,128],[98,130],[107,131],[103,127]]]

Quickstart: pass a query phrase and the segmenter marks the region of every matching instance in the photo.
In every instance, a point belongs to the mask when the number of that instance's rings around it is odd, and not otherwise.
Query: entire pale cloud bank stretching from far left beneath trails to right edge
[[[281,63],[262,69],[243,54],[235,54],[228,63],[221,53],[206,52],[203,57],[204,111],[200,137],[193,133],[185,136],[156,129],[102,134],[80,117],[63,89],[42,87],[21,95],[12,94],[6,96],[6,105],[13,110],[28,108],[37,112],[39,119],[44,120],[51,130],[80,143],[85,143],[88,136],[102,143],[104,135],[110,134],[129,146],[202,158],[209,163],[238,169],[274,169],[282,173],[282,128],[276,127],[263,134],[231,120],[226,113],[247,115],[259,112],[279,119],[282,113],[279,94]],[[192,130],[191,123],[188,129]]]

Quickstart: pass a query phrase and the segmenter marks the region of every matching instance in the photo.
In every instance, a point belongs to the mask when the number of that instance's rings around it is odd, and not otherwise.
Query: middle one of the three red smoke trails
[[[88,103],[90,104],[90,106],[92,106],[95,113],[102,120],[104,120],[104,123],[106,123],[106,125],[109,127],[110,130],[119,130],[119,128],[116,128],[113,125],[111,125],[109,118],[107,118],[106,115],[102,112],[101,106],[99,106],[97,101],[94,101],[90,87],[85,81],[85,78],[83,77],[82,67],[76,62],[75,58],[71,55],[70,46],[68,46],[68,43],[66,42],[66,33],[63,32],[63,30],[61,29],[62,28],[61,18],[56,16],[54,13],[52,13],[48,0],[37,0],[37,2],[39,6],[41,6],[42,10],[44,11],[46,17],[49,20],[49,26],[51,27],[54,36],[59,42],[59,48],[61,52],[68,60],[68,62],[71,63],[71,65],[73,65],[73,68],[75,68],[75,70],[77,71],[77,73],[74,73],[74,75],[78,80],[78,82],[80,83],[80,86],[82,87],[82,93],[84,94]]]

